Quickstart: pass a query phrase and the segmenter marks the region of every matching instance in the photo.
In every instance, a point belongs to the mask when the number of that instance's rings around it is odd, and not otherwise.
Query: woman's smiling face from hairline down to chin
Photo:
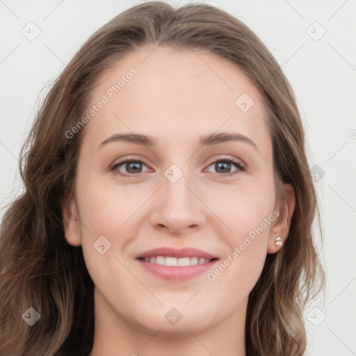
[[[252,82],[204,51],[141,47],[102,74],[88,112],[73,130],[79,221],[64,216],[97,318],[161,334],[242,321],[286,236]]]

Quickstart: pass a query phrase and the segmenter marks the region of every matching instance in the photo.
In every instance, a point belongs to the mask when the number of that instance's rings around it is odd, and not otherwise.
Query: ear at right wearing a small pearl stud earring
[[[271,224],[270,236],[268,236],[267,253],[275,253],[279,251],[289,234],[291,218],[293,216],[294,208],[296,207],[296,197],[291,184],[284,184],[284,188],[286,189],[286,202],[279,202],[277,204],[276,209],[280,212],[280,215]],[[282,238],[282,245],[275,245],[277,237]]]

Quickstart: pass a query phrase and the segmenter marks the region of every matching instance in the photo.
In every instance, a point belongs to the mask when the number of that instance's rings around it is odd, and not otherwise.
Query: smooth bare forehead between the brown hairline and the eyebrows
[[[98,102],[104,104],[86,127],[90,142],[122,131],[145,131],[165,143],[218,130],[257,141],[268,135],[257,88],[208,51],[140,47],[102,73],[88,111]]]

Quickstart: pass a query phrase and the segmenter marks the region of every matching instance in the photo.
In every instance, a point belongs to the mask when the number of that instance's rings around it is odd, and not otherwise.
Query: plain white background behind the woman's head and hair
[[[181,6],[189,1],[168,2]],[[307,355],[356,355],[356,1],[203,2],[250,26],[296,92],[310,166],[325,172],[316,185],[327,291],[325,300],[309,305],[306,312]],[[22,189],[19,149],[51,81],[92,32],[138,3],[0,0],[1,216]],[[41,31],[33,41],[22,34],[29,22]],[[319,40],[309,35],[322,33],[314,22],[326,31]]]

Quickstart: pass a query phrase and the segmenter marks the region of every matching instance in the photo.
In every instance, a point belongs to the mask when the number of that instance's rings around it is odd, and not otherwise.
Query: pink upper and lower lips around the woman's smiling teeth
[[[145,257],[156,256],[176,258],[204,257],[204,259],[213,259],[213,261],[209,261],[204,264],[196,264],[194,266],[163,266],[144,261]],[[213,268],[213,266],[219,261],[218,257],[213,256],[213,254],[209,254],[208,252],[198,250],[196,248],[155,248],[153,250],[143,252],[142,254],[138,254],[136,260],[149,273],[152,273],[153,275],[156,275],[156,277],[160,277],[163,280],[171,281],[183,281],[202,275],[202,273],[206,273],[207,270]]]

